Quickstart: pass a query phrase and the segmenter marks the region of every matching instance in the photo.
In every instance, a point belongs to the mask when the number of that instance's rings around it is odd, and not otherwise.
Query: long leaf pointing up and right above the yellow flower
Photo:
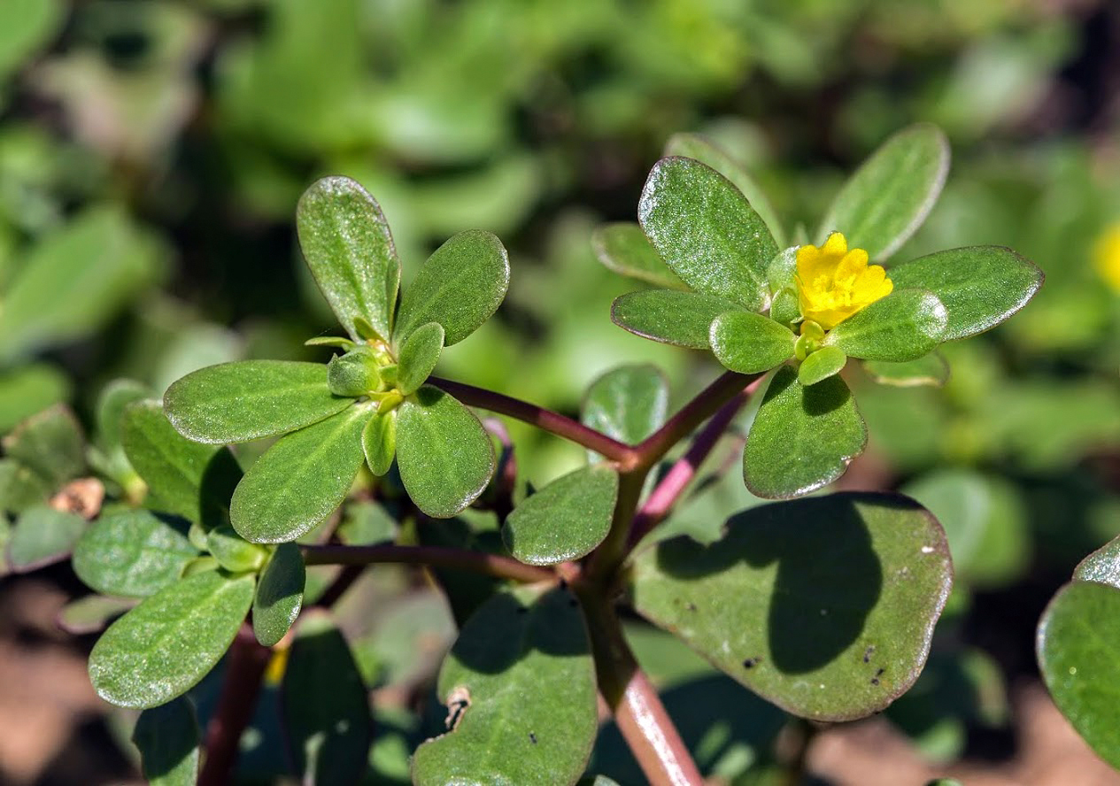
[[[816,233],[818,245],[830,232],[842,232],[849,249],[885,260],[925,221],[948,174],[949,142],[940,129],[918,123],[899,131],[837,194]]]

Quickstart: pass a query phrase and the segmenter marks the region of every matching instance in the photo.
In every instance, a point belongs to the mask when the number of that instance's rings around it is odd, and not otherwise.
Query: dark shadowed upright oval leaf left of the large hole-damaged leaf
[[[330,615],[304,615],[281,685],[282,723],[304,783],[362,780],[373,738],[367,689]]]

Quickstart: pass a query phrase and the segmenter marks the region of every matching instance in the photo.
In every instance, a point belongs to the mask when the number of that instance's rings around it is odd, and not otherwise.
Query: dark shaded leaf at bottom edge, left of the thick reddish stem
[[[149,786],[194,786],[199,741],[195,708],[186,696],[144,710],[132,730]]]

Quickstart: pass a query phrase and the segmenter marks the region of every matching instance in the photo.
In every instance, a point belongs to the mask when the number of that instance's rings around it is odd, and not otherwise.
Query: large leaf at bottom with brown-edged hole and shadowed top
[[[501,592],[463,627],[437,686],[452,730],[417,749],[418,786],[562,786],[584,774],[598,726],[587,630],[570,592]]]

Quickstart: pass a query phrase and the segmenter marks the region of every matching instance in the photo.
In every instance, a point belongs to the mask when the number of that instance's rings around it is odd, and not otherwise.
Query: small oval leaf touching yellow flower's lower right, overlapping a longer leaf
[[[948,324],[935,294],[899,289],[829,330],[824,344],[850,357],[902,363],[928,354],[944,340]]]

